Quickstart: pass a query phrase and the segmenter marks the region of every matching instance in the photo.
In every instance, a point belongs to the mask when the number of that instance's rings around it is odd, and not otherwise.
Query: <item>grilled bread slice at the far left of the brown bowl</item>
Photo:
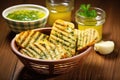
[[[20,47],[26,47],[30,43],[39,42],[40,40],[48,39],[48,35],[45,35],[39,31],[29,30],[24,31],[16,35],[15,41]]]

